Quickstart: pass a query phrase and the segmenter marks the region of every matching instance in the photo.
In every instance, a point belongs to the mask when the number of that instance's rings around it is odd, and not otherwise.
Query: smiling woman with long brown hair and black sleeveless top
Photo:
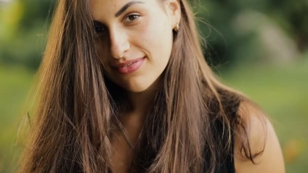
[[[284,172],[261,110],[217,81],[186,0],[61,0],[21,172]]]

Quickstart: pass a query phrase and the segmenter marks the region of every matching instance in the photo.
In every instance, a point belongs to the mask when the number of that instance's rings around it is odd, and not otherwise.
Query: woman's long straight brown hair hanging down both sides
[[[180,5],[181,27],[145,121],[143,147],[154,155],[147,172],[200,172],[202,167],[213,172],[220,151],[232,147],[238,126],[243,146],[248,138],[247,123],[231,120],[223,101],[245,97],[216,80],[205,62],[190,5],[186,0]],[[58,2],[38,70],[40,97],[20,172],[107,172],[110,125],[118,105],[93,49],[93,30],[89,1]],[[216,145],[213,120],[227,132],[226,144]],[[249,147],[243,149],[253,159]]]

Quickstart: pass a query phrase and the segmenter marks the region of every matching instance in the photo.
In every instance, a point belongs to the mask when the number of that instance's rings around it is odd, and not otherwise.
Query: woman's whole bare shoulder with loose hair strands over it
[[[239,128],[235,135],[236,172],[285,172],[277,135],[262,110],[254,103],[244,101],[239,107],[239,116],[246,129]]]

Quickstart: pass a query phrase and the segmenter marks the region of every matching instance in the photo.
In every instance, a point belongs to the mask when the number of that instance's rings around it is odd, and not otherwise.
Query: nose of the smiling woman
[[[116,59],[124,57],[124,54],[130,49],[127,32],[121,28],[109,29],[110,52]]]

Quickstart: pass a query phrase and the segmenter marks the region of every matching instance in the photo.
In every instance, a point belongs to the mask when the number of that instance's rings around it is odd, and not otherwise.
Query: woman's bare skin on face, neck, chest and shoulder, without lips
[[[132,0],[131,0],[132,1]],[[137,141],[141,131],[146,108],[157,91],[158,81],[166,68],[172,49],[172,30],[180,21],[180,4],[177,0],[166,1],[165,7],[158,0],[139,0],[121,15],[115,14],[129,0],[93,0],[92,16],[98,28],[97,54],[104,65],[104,72],[114,83],[121,86],[128,96],[132,109],[124,112],[121,121],[132,143]],[[131,15],[137,15],[131,16]],[[97,29],[97,28],[96,28]],[[121,74],[112,65],[146,57],[143,65],[130,74]],[[252,109],[252,108],[251,108]],[[253,111],[251,111],[253,112]],[[253,115],[242,115],[252,116]],[[262,125],[251,118],[251,148],[260,149]],[[271,123],[266,120],[267,136],[265,149],[255,165],[243,159],[239,139],[235,139],[235,166],[237,172],[285,172],[281,148]],[[113,172],[128,172],[135,158],[120,131],[114,130],[112,146],[114,153],[110,166]],[[264,141],[263,141],[264,142]]]

